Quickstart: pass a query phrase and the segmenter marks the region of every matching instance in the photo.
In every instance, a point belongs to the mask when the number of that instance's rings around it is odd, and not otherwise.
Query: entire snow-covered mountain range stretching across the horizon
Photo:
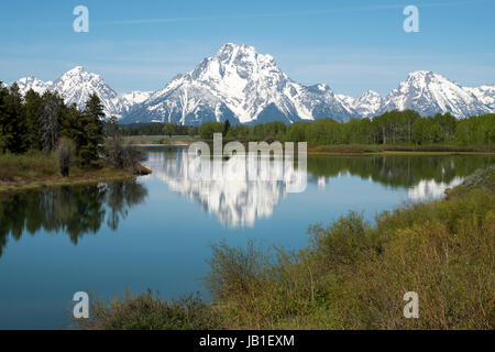
[[[413,109],[421,116],[450,112],[457,118],[495,112],[495,85],[462,87],[428,70],[410,73],[387,96],[369,90],[358,98],[334,94],[326,84],[306,86],[292,80],[273,56],[253,46],[226,44],[191,72],[174,77],[157,91],[119,94],[100,75],[77,66],[54,81],[24,77],[22,94],[57,91],[67,105],[84,105],[97,94],[107,117],[121,123],[174,122],[198,125],[209,121],[262,123],[364,118],[391,110]]]

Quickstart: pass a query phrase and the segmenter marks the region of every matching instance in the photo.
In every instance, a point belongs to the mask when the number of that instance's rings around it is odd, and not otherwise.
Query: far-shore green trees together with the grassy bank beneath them
[[[199,127],[174,123],[144,123],[122,127],[130,143],[190,143],[210,141],[222,133],[228,141],[307,142],[309,153],[382,153],[382,152],[493,152],[495,114],[458,120],[450,113],[420,117],[413,110],[389,111],[372,119],[337,122],[330,118],[317,121],[231,125],[206,122]]]

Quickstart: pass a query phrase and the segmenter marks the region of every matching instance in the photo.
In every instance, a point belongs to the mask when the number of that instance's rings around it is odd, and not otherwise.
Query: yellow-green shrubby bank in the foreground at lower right
[[[495,167],[446,199],[309,230],[300,251],[212,246],[212,302],[151,293],[94,305],[84,329],[493,329]],[[419,318],[403,315],[416,292]]]

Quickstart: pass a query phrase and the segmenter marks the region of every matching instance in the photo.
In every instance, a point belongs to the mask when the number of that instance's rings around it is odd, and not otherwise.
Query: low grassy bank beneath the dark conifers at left
[[[150,173],[141,168],[142,174]],[[43,187],[85,185],[117,182],[136,175],[101,164],[100,167],[70,167],[68,177],[62,177],[55,154],[30,152],[26,154],[0,154],[0,193],[36,189]]]

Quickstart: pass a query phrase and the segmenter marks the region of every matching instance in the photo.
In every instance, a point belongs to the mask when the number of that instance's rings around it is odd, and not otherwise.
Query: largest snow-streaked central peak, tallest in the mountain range
[[[122,122],[293,122],[329,116],[345,120],[353,113],[327,85],[296,84],[271,55],[230,43],[135,106]]]

